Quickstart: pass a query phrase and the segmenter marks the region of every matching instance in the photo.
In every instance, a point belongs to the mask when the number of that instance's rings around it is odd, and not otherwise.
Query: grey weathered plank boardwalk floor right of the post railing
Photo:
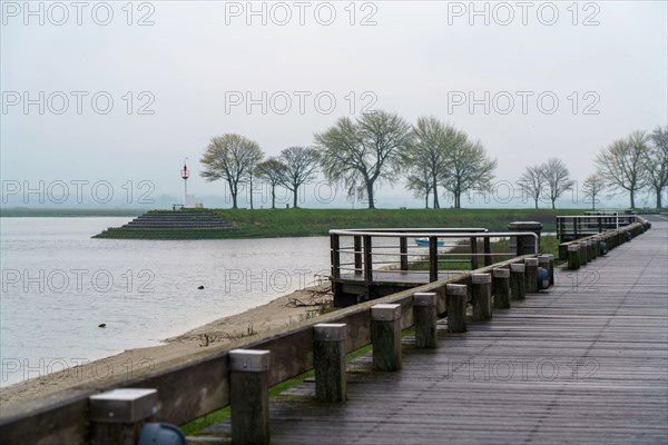
[[[272,444],[668,443],[668,222],[652,219],[465,334],[443,320],[436,349],[405,337],[401,372],[358,358],[345,404],[314,402],[312,382],[273,398]]]

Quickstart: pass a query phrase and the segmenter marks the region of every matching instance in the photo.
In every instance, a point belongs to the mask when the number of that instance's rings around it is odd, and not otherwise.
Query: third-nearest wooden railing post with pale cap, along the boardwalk
[[[345,324],[313,326],[315,397],[320,402],[345,402]]]

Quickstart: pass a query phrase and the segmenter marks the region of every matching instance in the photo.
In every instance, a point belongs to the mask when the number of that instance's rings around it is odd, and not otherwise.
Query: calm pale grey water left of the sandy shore
[[[90,238],[128,219],[0,218],[0,386],[157,345],[328,275],[326,237]]]

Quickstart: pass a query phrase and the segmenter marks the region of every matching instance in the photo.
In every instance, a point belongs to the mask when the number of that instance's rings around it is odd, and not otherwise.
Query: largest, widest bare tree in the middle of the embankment
[[[343,117],[315,135],[327,180],[343,185],[348,196],[364,194],[370,209],[375,208],[374,186],[399,171],[399,152],[411,139],[411,126],[385,111],[365,113],[355,121]]]

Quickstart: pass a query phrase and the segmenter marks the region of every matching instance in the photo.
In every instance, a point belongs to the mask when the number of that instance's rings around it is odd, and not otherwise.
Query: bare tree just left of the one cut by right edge
[[[613,141],[596,157],[598,174],[612,190],[626,190],[631,208],[636,207],[636,192],[646,186],[644,159],[648,151],[645,131],[633,131],[628,138]]]

